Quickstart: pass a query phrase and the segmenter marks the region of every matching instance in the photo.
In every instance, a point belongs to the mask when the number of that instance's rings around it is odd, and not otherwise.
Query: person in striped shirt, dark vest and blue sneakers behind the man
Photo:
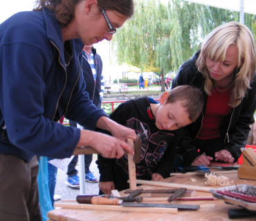
[[[101,101],[104,94],[104,79],[102,75],[102,59],[100,55],[96,53],[96,49],[93,48],[93,44],[90,46],[84,46],[83,48],[83,61],[82,70],[84,75],[84,81],[86,84],[85,90],[89,93],[89,99],[95,104],[97,108],[101,108]],[[70,126],[77,126],[76,122],[70,121]],[[74,156],[73,160],[68,164],[68,180],[67,184],[71,187],[79,187],[80,179],[77,175],[75,165],[77,164],[78,156]],[[93,155],[84,155],[84,167],[85,167],[85,180],[86,182],[98,182],[98,179],[91,173],[89,167]]]

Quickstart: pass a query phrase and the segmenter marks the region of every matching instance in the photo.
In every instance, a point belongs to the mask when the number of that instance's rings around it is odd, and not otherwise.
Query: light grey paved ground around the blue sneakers
[[[93,161],[91,162],[90,170],[94,173],[95,177],[99,178],[99,170],[97,164],[95,164],[95,160],[97,160],[97,155],[93,155]],[[78,162],[79,164],[79,162]],[[79,171],[79,166],[76,166],[77,171]],[[75,200],[76,196],[80,194],[80,189],[72,188],[66,184],[67,180],[66,171],[62,171],[61,169],[58,169],[57,171],[57,183],[55,188],[55,194],[61,195],[62,200]],[[99,187],[98,182],[97,183],[89,183],[86,182],[86,194],[98,194],[99,193]],[[60,201],[58,201],[60,202]]]

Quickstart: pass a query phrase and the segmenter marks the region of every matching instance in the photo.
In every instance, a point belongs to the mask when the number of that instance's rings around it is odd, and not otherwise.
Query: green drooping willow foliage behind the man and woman
[[[158,0],[136,0],[134,16],[113,37],[118,64],[176,71],[199,50],[211,30],[239,21],[239,12],[182,0],[164,5]],[[255,15],[245,14],[245,24],[256,34]]]

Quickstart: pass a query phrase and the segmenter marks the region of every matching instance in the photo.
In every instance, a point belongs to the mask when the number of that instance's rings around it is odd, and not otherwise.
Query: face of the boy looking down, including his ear
[[[188,111],[181,106],[182,102],[166,104],[168,93],[164,93],[159,100],[160,106],[156,112],[156,127],[160,130],[174,131],[191,124]]]

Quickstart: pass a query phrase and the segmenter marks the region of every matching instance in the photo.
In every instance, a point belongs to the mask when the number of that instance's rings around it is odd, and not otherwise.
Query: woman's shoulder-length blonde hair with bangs
[[[250,82],[253,81],[255,74],[255,39],[250,29],[241,23],[231,21],[212,30],[203,40],[196,66],[205,77],[205,92],[211,95],[214,80],[210,77],[206,59],[223,62],[230,45],[238,48],[238,66],[232,73],[233,83],[229,102],[230,106],[235,107],[246,95],[246,90],[250,88]]]

